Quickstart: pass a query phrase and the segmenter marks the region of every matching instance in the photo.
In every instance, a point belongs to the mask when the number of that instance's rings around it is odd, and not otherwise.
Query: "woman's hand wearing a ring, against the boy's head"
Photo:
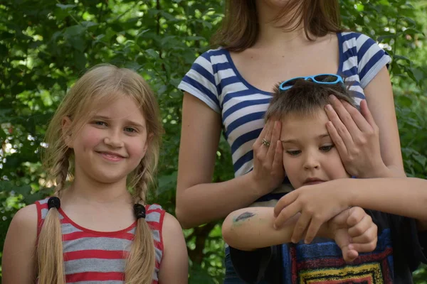
[[[283,148],[280,142],[280,121],[268,121],[253,144],[252,187],[260,196],[278,187],[285,178]]]

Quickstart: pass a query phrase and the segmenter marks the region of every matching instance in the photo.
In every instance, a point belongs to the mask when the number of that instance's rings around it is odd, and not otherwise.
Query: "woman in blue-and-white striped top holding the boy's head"
[[[340,151],[351,175],[405,175],[386,67],[391,58],[367,35],[344,31],[339,22],[337,0],[226,1],[223,26],[213,40],[220,47],[200,55],[179,84],[184,102],[176,216],[184,227],[251,204],[274,206],[292,190],[280,163],[280,123],[264,125],[263,119],[272,86],[292,77],[339,74],[351,82],[357,104],[367,100],[379,126],[381,155],[371,154],[378,149],[362,133],[352,151]],[[328,113],[344,143],[352,141],[337,114],[349,118],[344,122],[352,117],[342,106]],[[212,183],[221,131],[231,147],[235,178]],[[239,283],[227,249],[226,266],[226,283]]]

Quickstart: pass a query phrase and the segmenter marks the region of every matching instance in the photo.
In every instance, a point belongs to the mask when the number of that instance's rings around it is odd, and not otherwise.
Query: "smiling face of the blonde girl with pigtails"
[[[64,126],[69,123],[65,119]],[[134,99],[121,96],[90,118],[72,136],[69,147],[75,154],[75,178],[101,183],[126,180],[147,151],[147,126]]]

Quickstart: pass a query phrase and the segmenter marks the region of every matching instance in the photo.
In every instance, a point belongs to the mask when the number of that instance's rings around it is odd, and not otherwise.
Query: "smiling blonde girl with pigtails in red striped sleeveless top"
[[[161,134],[154,94],[136,72],[86,72],[48,126],[43,162],[55,193],[12,220],[4,283],[187,283],[181,226],[145,203]]]

